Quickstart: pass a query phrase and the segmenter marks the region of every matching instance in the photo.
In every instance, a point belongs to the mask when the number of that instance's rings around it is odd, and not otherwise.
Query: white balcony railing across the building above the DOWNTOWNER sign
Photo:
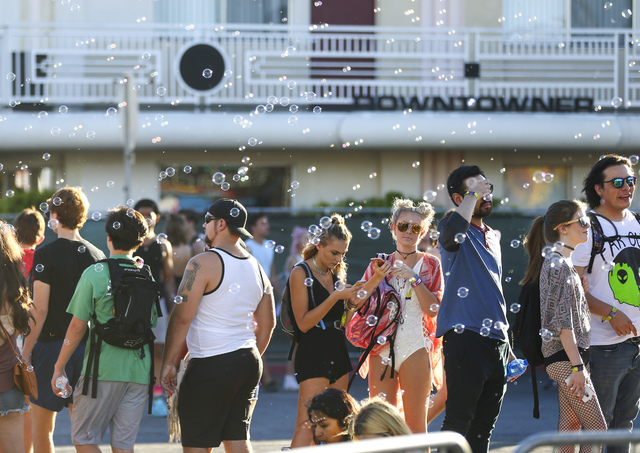
[[[140,103],[150,106],[258,105],[269,96],[319,105],[350,105],[357,96],[488,96],[583,97],[605,108],[620,98],[620,108],[640,106],[640,43],[629,31],[187,28],[0,27],[0,105],[112,104],[120,81],[133,74]],[[210,90],[180,75],[185,49],[195,44],[213,47],[224,62]],[[479,64],[480,76],[465,77],[466,63]]]

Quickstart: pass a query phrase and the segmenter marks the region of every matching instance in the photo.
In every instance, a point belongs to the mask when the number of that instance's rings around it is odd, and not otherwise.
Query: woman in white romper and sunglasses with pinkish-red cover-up
[[[418,251],[433,214],[428,203],[414,205],[411,200],[396,199],[389,222],[396,250],[386,262],[373,259],[363,277],[379,284],[383,275],[389,275],[389,282],[401,296],[394,376],[388,369],[389,347],[370,355],[369,395],[384,396],[394,406],[403,407],[414,433],[426,432],[432,382],[436,387],[442,382],[440,342],[435,338],[435,318],[444,289],[442,269],[438,258]]]

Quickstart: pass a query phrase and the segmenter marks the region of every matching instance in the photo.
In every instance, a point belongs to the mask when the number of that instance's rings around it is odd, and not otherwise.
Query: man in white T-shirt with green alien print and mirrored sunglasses
[[[608,428],[628,431],[640,407],[640,223],[629,209],[635,184],[626,157],[609,154],[591,167],[583,192],[592,233],[572,257],[590,287],[591,380]],[[607,446],[608,453],[628,451]]]

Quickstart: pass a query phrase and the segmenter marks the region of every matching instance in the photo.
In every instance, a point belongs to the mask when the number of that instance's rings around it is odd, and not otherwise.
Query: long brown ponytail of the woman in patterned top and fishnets
[[[529,234],[523,241],[524,250],[529,255],[529,262],[524,278],[520,280],[521,285],[528,281],[534,283],[538,281],[544,262],[542,248],[558,241],[560,238],[560,232],[556,229],[558,225],[568,222],[579,209],[585,208],[586,205],[580,200],[560,200],[549,206],[544,216],[536,217]]]

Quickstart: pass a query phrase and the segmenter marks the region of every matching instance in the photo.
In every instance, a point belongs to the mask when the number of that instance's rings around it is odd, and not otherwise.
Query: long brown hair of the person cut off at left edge
[[[29,306],[31,297],[27,280],[22,273],[22,248],[13,227],[0,221],[0,303],[2,311],[11,315],[13,326],[23,335],[29,335]]]

